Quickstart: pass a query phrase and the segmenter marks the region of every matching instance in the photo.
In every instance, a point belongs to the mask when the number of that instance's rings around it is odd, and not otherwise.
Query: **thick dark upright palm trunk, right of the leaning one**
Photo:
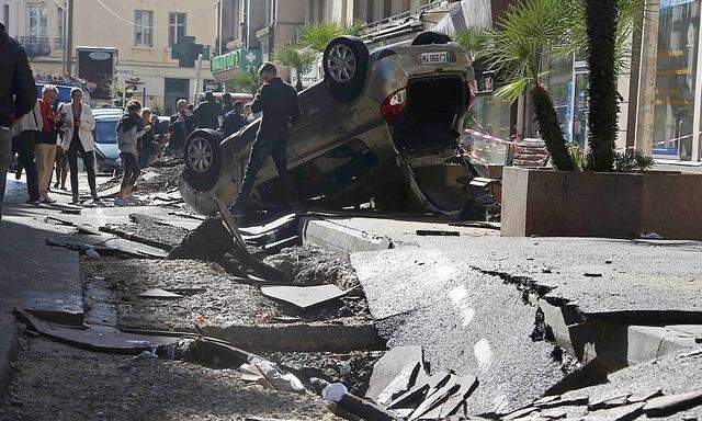
[[[612,171],[614,166],[619,114],[614,68],[618,14],[614,0],[586,1],[590,67],[588,168],[591,171]]]

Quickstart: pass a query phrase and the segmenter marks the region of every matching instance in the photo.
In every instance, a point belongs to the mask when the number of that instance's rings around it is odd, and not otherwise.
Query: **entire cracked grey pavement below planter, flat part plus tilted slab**
[[[596,355],[635,364],[702,339],[702,242],[503,238],[437,218],[318,218],[303,234],[322,228],[354,246],[388,346],[422,345],[432,369],[478,376],[468,413],[520,408]],[[380,238],[393,248],[363,251]]]

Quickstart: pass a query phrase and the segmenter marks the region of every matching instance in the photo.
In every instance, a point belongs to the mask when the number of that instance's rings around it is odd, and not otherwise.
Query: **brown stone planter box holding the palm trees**
[[[506,167],[502,236],[702,240],[702,174]]]

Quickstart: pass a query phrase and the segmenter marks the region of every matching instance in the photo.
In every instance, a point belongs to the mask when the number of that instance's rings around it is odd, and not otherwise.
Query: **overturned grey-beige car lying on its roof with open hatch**
[[[302,117],[288,140],[287,166],[302,198],[329,207],[370,198],[404,207],[411,190],[426,209],[457,214],[467,198],[465,180],[474,175],[456,153],[473,101],[468,54],[432,32],[371,54],[361,39],[341,36],[322,65],[325,79],[299,93]],[[180,182],[189,205],[213,214],[213,195],[234,201],[258,125],[225,139],[208,129],[191,134]],[[285,205],[282,189],[268,160],[254,204]]]

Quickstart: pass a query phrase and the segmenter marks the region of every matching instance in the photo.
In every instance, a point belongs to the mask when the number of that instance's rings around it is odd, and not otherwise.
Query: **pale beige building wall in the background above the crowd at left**
[[[61,0],[59,0],[61,1]],[[211,46],[216,41],[216,0],[102,0],[111,10],[107,11],[95,0],[73,0],[73,48],[79,46],[116,48],[118,64],[116,80],[124,82],[138,78],[143,83],[137,86],[137,98],[143,99],[146,89],[145,105],[165,104],[166,78],[183,79],[189,82],[189,100],[194,100],[194,68],[179,67],[171,59],[169,46],[169,13],[186,14],[186,36],[194,36],[195,43]],[[61,72],[63,37],[59,34],[59,12],[52,0],[0,0],[0,19],[2,5],[9,3],[13,8],[11,34],[20,39],[29,34],[27,4],[42,4],[46,8],[47,38],[52,52],[45,57],[30,59],[35,73]],[[154,12],[152,46],[135,46],[135,10]],[[128,21],[128,22],[127,22]],[[26,46],[25,46],[26,47]],[[213,50],[214,53],[214,50]],[[73,64],[75,69],[75,64]],[[202,80],[213,79],[208,61],[203,62]]]

